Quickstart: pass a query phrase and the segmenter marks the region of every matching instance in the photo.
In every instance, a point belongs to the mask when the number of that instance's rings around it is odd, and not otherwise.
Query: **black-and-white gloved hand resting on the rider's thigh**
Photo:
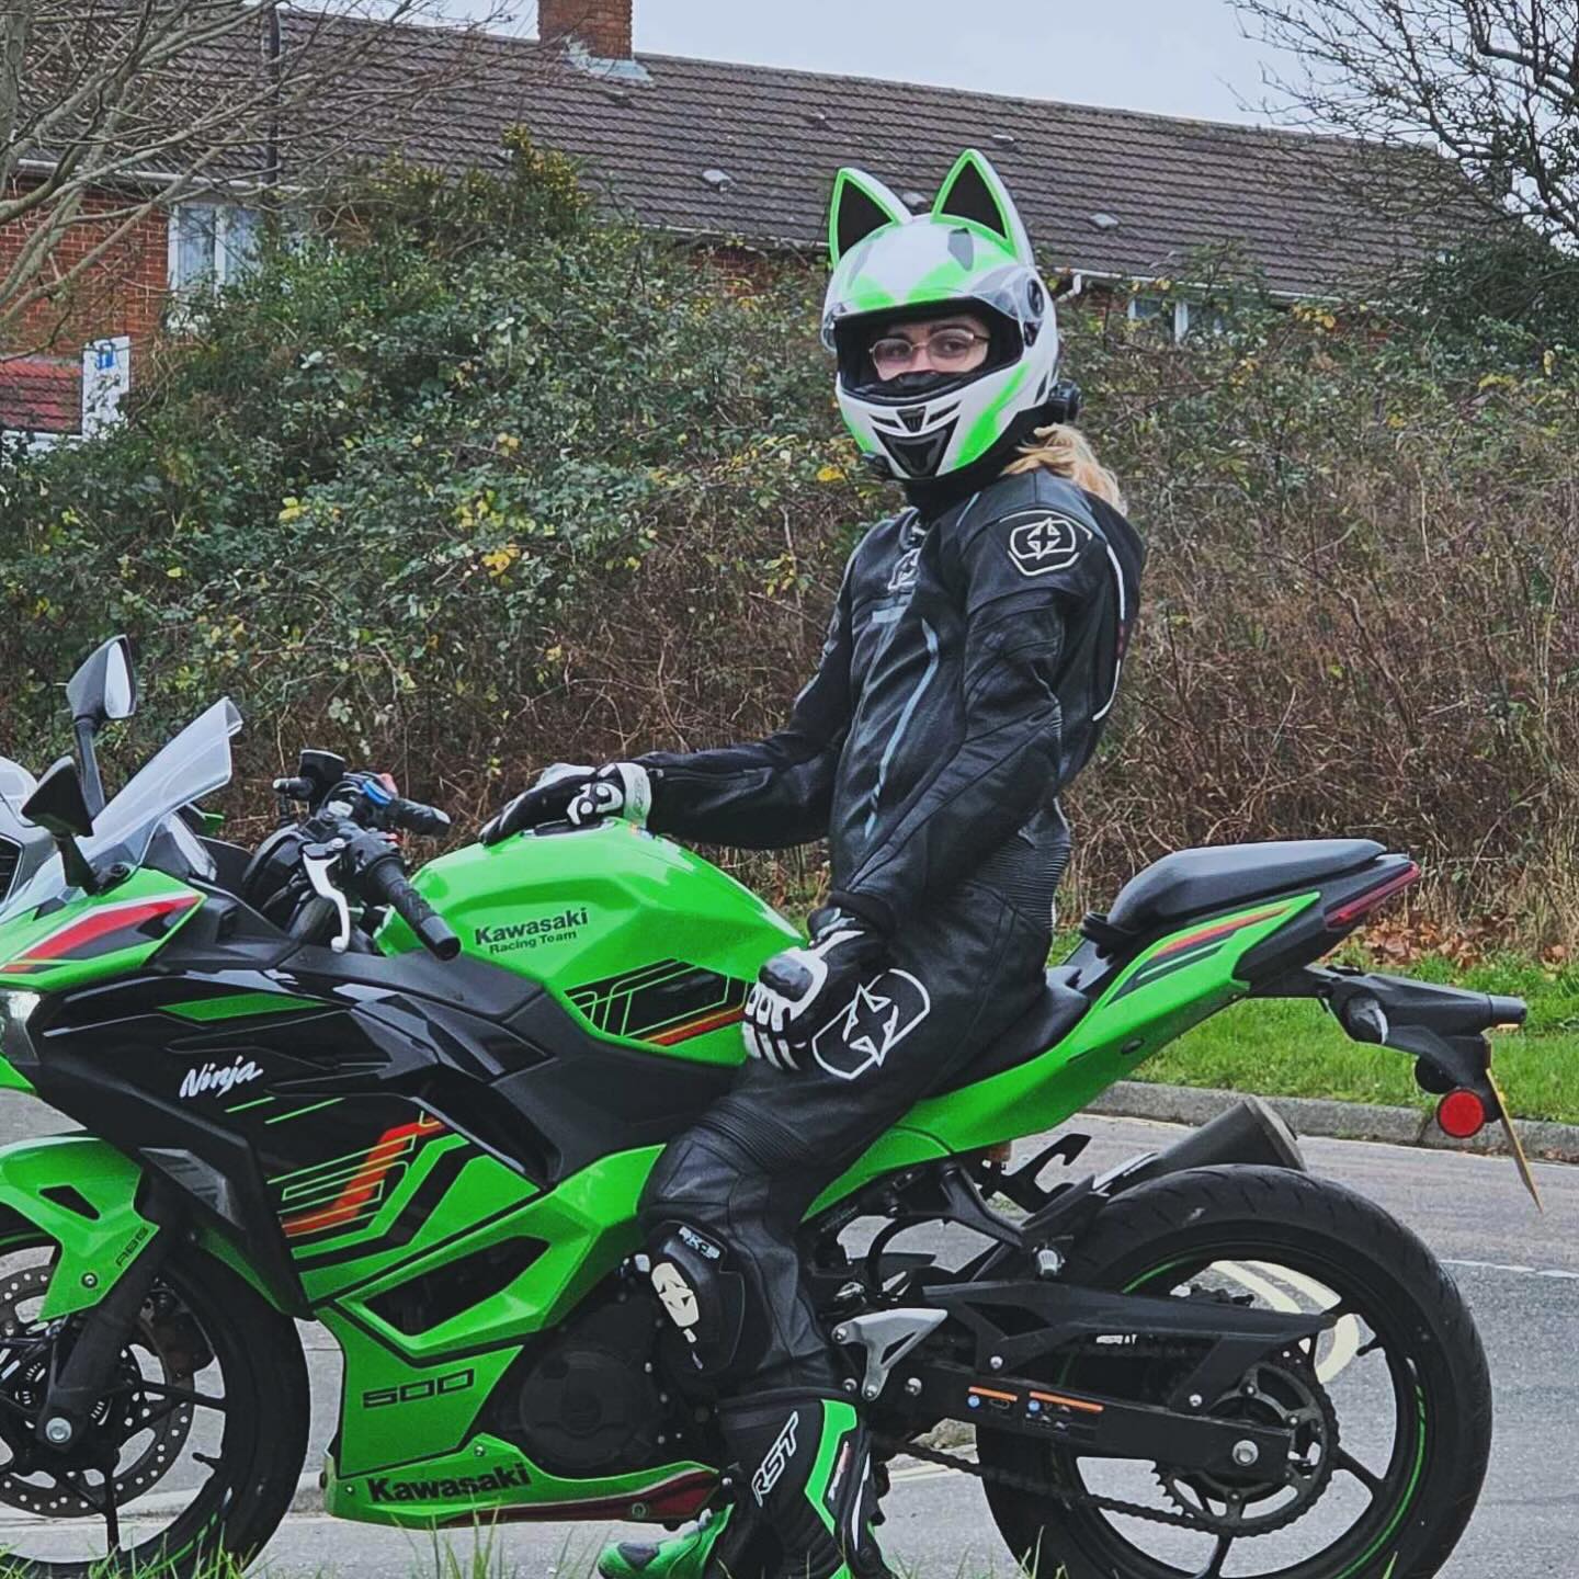
[[[846,911],[820,910],[812,941],[775,954],[745,1000],[745,1050],[778,1069],[804,1069],[813,1039],[886,965],[887,944]]]

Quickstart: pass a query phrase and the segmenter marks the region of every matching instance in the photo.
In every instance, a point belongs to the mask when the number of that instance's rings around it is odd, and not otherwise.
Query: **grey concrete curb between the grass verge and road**
[[[1104,1118],[1150,1118],[1159,1124],[1205,1124],[1227,1112],[1243,1091],[1216,1091],[1208,1086],[1148,1085],[1120,1080],[1086,1113]],[[1374,1102],[1331,1102],[1309,1096],[1266,1097],[1296,1135],[1330,1140],[1382,1140],[1394,1146],[1426,1146],[1432,1151],[1473,1151],[1480,1156],[1510,1154],[1500,1124],[1487,1124],[1473,1140],[1453,1140],[1437,1129],[1429,1112],[1413,1107],[1378,1107]],[[1579,1162],[1579,1124],[1549,1124],[1541,1120],[1514,1120],[1519,1142],[1532,1157],[1547,1162]]]

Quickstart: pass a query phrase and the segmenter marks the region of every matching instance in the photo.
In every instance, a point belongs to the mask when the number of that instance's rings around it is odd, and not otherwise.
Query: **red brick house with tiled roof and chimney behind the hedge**
[[[911,205],[930,201],[954,156],[981,147],[1009,180],[1047,262],[1077,289],[1126,287],[1135,316],[1189,325],[1189,294],[1164,302],[1134,281],[1178,276],[1202,248],[1232,246],[1266,287],[1318,295],[1418,254],[1418,232],[1353,201],[1375,150],[1303,133],[1216,125],[955,88],[714,60],[635,55],[633,0],[540,0],[537,39],[471,36],[442,107],[369,131],[365,156],[398,152],[461,171],[497,161],[524,125],[579,159],[606,205],[706,243],[813,254],[826,188],[861,164]],[[289,13],[286,25],[289,28]],[[287,38],[289,47],[289,38]],[[393,28],[376,65],[442,66],[461,46],[436,28]],[[286,172],[289,180],[289,172]],[[234,191],[234,188],[232,188]],[[81,346],[139,349],[171,291],[245,265],[245,201],[152,213],[98,268],[52,343],[0,357],[0,431],[73,431]],[[88,245],[92,227],[74,242]],[[16,238],[0,232],[0,261]],[[133,371],[134,376],[134,371]]]

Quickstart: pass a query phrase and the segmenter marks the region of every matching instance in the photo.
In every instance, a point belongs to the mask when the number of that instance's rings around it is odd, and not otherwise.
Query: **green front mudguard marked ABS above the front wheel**
[[[134,1205],[141,1180],[136,1162],[93,1135],[52,1135],[0,1150],[0,1210],[33,1224],[60,1246],[39,1311],[43,1320],[98,1304],[153,1240],[153,1224]],[[65,1187],[81,1195],[95,1216],[44,1194]]]

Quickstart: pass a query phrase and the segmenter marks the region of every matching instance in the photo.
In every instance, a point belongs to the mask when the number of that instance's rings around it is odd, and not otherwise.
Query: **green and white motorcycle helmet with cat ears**
[[[998,172],[974,148],[949,171],[928,213],[911,213],[876,177],[834,180],[827,248],[834,278],[823,344],[838,358],[838,409],[856,444],[894,477],[941,477],[981,459],[1031,414],[1060,412],[1058,321],[1030,237]],[[894,322],[968,309],[992,330],[968,373],[881,381],[873,338]]]

